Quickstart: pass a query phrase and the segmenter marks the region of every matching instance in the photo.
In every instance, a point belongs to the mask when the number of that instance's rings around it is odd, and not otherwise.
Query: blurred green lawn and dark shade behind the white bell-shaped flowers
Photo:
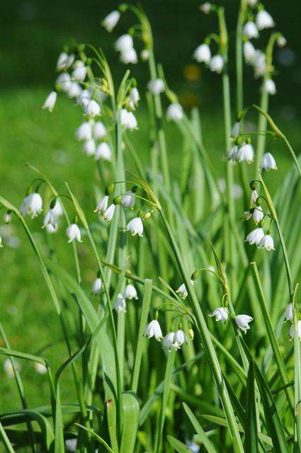
[[[164,66],[169,85],[178,93],[183,106],[200,108],[205,145],[222,171],[225,155],[222,117],[221,77],[195,64],[193,51],[208,33],[217,30],[215,15],[205,16],[198,10],[195,0],[142,0],[142,6],[149,16],[155,42],[157,61]],[[238,1],[225,0],[227,25],[230,38],[229,74],[232,88],[233,120],[235,115],[234,92],[234,30],[237,21]],[[81,111],[73,107],[72,101],[59,96],[54,113],[42,110],[42,104],[52,90],[55,81],[55,65],[59,52],[65,44],[91,42],[103,47],[116,83],[120,81],[125,66],[118,62],[113,51],[113,42],[126,33],[133,25],[133,16],[127,13],[109,34],[101,27],[101,20],[118,3],[115,1],[16,1],[1,2],[1,71],[0,71],[0,193],[19,205],[25,195],[33,173],[24,163],[40,168],[63,190],[64,180],[75,189],[79,200],[92,212],[95,168],[84,155],[81,144],[75,141],[74,131],[81,122]],[[274,80],[278,93],[271,97],[270,112],[276,123],[287,134],[300,154],[300,86],[301,86],[301,28],[300,1],[283,2],[275,0],[266,4],[276,22],[276,30],[283,33],[288,45],[275,51],[276,74]],[[264,30],[256,47],[263,48],[271,30]],[[139,43],[135,42],[137,50]],[[148,81],[147,65],[140,62],[130,67],[137,78],[140,93]],[[253,71],[244,70],[245,105],[259,103],[260,80],[254,80]],[[165,102],[165,101],[164,101]],[[147,165],[147,110],[142,95],[142,104],[137,110],[139,130],[132,133],[132,140]],[[251,117],[252,120],[252,117]],[[256,115],[254,115],[254,122]],[[166,125],[168,150],[171,166],[176,174],[177,159],[181,153],[181,140],[174,125]],[[142,146],[143,145],[143,146]],[[278,178],[285,176],[289,168],[288,151],[281,144],[276,145],[274,154],[278,161],[278,173],[269,174],[268,181],[276,187]],[[2,216],[1,216],[2,217]],[[15,222],[16,223],[16,222]],[[40,220],[30,221],[38,240],[41,239]],[[37,353],[40,348],[55,341],[55,348],[48,348],[45,356],[59,364],[65,357],[60,349],[60,332],[52,303],[42,282],[28,241],[23,231],[16,226],[0,226],[4,248],[0,252],[0,321],[10,340],[11,348],[28,353]],[[57,239],[59,247],[66,249],[62,261],[68,265],[70,250],[64,234]],[[41,240],[42,242],[42,240]],[[82,260],[86,260],[84,286],[89,286],[95,277],[85,246]],[[1,343],[0,338],[0,344]],[[43,352],[44,353],[44,352]],[[23,366],[23,379],[28,401],[38,405],[47,393],[45,377],[38,375],[32,365]],[[39,384],[37,394],[33,379]],[[66,374],[66,382],[68,374]],[[15,383],[4,372],[4,357],[0,356],[1,403],[0,411],[18,408]],[[71,398],[73,389],[65,386],[63,398]]]

